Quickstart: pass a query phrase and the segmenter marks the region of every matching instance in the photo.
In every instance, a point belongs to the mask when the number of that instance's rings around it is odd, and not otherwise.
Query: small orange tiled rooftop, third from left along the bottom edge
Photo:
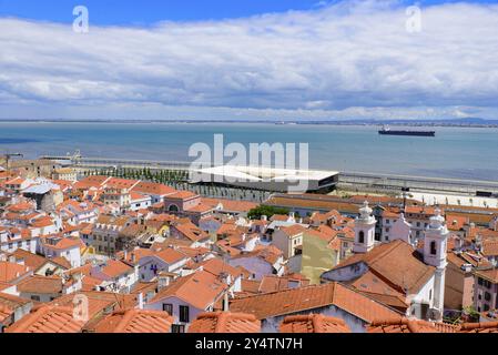
[[[202,313],[192,322],[189,333],[261,333],[261,321],[252,314]]]

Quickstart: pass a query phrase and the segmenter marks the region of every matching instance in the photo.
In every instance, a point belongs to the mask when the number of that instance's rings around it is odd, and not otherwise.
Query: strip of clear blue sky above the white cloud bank
[[[0,0],[0,17],[72,22],[72,9],[87,6],[92,23],[148,26],[159,21],[195,21],[243,18],[270,12],[311,10],[337,0]],[[402,3],[431,6],[460,1],[403,0]],[[494,3],[497,0],[468,1]]]

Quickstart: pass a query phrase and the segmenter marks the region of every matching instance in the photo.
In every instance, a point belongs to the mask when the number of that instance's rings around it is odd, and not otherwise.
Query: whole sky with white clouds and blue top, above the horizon
[[[498,119],[496,1],[102,2],[0,0],[0,119]]]

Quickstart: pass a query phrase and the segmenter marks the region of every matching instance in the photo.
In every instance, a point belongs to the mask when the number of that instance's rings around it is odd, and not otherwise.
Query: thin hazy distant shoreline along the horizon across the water
[[[350,126],[441,126],[441,128],[498,128],[498,120],[480,120],[475,119],[474,122],[463,120],[453,121],[408,121],[408,120],[386,120],[386,121],[262,121],[262,120],[67,120],[67,119],[10,119],[0,120],[0,123],[105,123],[105,124],[272,124],[272,125],[350,125]]]

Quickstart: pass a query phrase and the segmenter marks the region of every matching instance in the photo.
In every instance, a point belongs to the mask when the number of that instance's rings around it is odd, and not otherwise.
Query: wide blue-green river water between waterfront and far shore
[[[433,128],[431,128],[433,129]],[[377,126],[250,123],[0,123],[0,154],[81,150],[91,158],[192,161],[189,149],[308,143],[313,169],[498,181],[498,129],[436,128],[436,138],[379,135]]]

